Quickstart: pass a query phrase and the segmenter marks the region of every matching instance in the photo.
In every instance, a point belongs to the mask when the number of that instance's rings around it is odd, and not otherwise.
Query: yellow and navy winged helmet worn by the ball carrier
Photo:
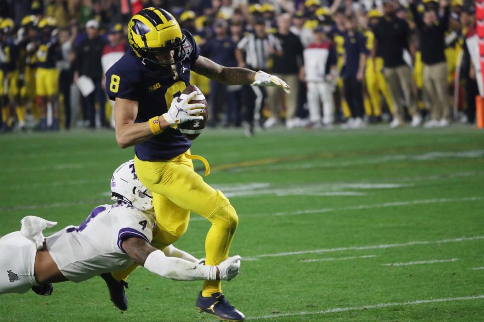
[[[187,39],[180,25],[161,8],[146,8],[134,15],[128,24],[128,40],[136,56],[152,68],[180,62],[190,53],[184,47]],[[156,53],[166,50],[174,50],[173,59],[158,61]]]

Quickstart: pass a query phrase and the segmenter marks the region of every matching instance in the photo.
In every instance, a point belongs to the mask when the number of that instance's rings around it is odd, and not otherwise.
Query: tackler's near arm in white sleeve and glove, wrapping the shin
[[[238,274],[240,257],[230,257],[218,266],[205,266],[187,260],[166,257],[162,251],[151,246],[145,239],[127,238],[123,249],[136,263],[152,273],[177,281],[231,280]]]

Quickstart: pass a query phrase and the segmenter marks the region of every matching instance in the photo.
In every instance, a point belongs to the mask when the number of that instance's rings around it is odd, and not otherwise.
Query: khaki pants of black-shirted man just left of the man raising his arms
[[[383,68],[383,74],[387,80],[390,96],[393,101],[393,117],[399,119],[401,122],[405,119],[405,112],[403,110],[402,100],[400,99],[400,89],[403,91],[410,115],[418,113],[417,100],[412,89],[412,71],[410,68],[407,65],[385,67]]]

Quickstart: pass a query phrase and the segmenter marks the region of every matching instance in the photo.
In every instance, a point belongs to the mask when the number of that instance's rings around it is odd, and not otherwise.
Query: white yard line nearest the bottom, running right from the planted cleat
[[[484,295],[435,298],[435,299],[416,300],[416,301],[408,301],[408,302],[379,303],[379,304],[371,304],[371,305],[365,305],[365,306],[335,307],[335,308],[329,308],[326,310],[313,311],[313,312],[299,311],[299,312],[287,312],[287,313],[278,313],[278,314],[249,316],[247,319],[258,320],[258,319],[280,318],[280,317],[298,316],[298,315],[329,314],[329,313],[338,313],[338,312],[347,312],[347,311],[362,311],[367,309],[385,308],[385,307],[392,307],[392,306],[419,305],[419,304],[443,303],[443,302],[454,302],[454,301],[469,301],[469,300],[477,300],[477,299],[484,299]]]

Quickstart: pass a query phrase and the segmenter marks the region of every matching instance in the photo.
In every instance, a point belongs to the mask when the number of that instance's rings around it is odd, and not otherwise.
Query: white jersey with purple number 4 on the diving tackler
[[[123,250],[123,240],[141,237],[151,243],[154,225],[154,213],[128,204],[101,205],[78,227],[68,226],[45,242],[59,270],[78,283],[128,268],[133,260]]]

